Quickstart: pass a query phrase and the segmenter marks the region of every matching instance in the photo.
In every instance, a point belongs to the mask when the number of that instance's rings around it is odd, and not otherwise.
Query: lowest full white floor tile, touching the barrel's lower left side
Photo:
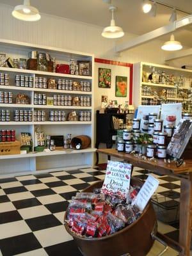
[[[72,236],[67,233],[64,225],[53,228],[46,228],[44,230],[38,230],[36,232],[33,232],[33,234],[36,236],[36,238],[43,247],[72,240]]]

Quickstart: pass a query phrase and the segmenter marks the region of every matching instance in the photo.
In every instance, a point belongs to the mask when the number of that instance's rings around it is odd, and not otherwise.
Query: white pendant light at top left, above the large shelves
[[[30,5],[29,0],[24,0],[23,5],[15,6],[12,15],[16,19],[25,21],[36,21],[41,19],[38,10]]]

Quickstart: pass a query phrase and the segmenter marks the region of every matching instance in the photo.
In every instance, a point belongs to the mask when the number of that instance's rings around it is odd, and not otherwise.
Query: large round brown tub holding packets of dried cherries
[[[102,182],[95,182],[83,192],[92,192],[94,188],[101,188]],[[143,182],[132,178],[131,184],[142,186]],[[65,213],[65,220],[66,217],[67,214]],[[151,233],[155,231],[156,234],[157,219],[152,204],[149,202],[140,218],[134,223],[106,237],[80,237],[68,228],[67,223],[65,223],[65,228],[76,241],[83,256],[120,256],[125,253],[130,253],[131,256],[146,256],[154,244]]]

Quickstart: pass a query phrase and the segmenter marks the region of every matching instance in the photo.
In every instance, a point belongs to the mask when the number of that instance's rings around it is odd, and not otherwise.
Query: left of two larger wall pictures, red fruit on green
[[[99,87],[111,88],[111,69],[99,68]]]

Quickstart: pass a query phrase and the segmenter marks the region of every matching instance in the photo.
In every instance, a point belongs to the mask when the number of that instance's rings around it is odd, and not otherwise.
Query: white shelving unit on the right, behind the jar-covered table
[[[140,62],[134,64],[134,91],[133,91],[133,102],[136,107],[142,104],[142,99],[153,99],[153,95],[142,95],[142,88],[148,86],[156,90],[157,92],[165,90],[175,90],[175,97],[167,97],[170,102],[182,102],[183,99],[179,98],[177,93],[178,89],[174,85],[168,84],[156,84],[143,82],[142,74],[143,71],[149,73],[152,72],[152,68],[156,68],[160,72],[164,71],[167,75],[173,74],[174,76],[183,76],[192,82],[192,70],[186,70],[183,68],[175,68],[166,65],[157,65],[154,63]],[[189,89],[189,86],[180,86],[180,89]],[[189,101],[188,99],[186,101]]]

